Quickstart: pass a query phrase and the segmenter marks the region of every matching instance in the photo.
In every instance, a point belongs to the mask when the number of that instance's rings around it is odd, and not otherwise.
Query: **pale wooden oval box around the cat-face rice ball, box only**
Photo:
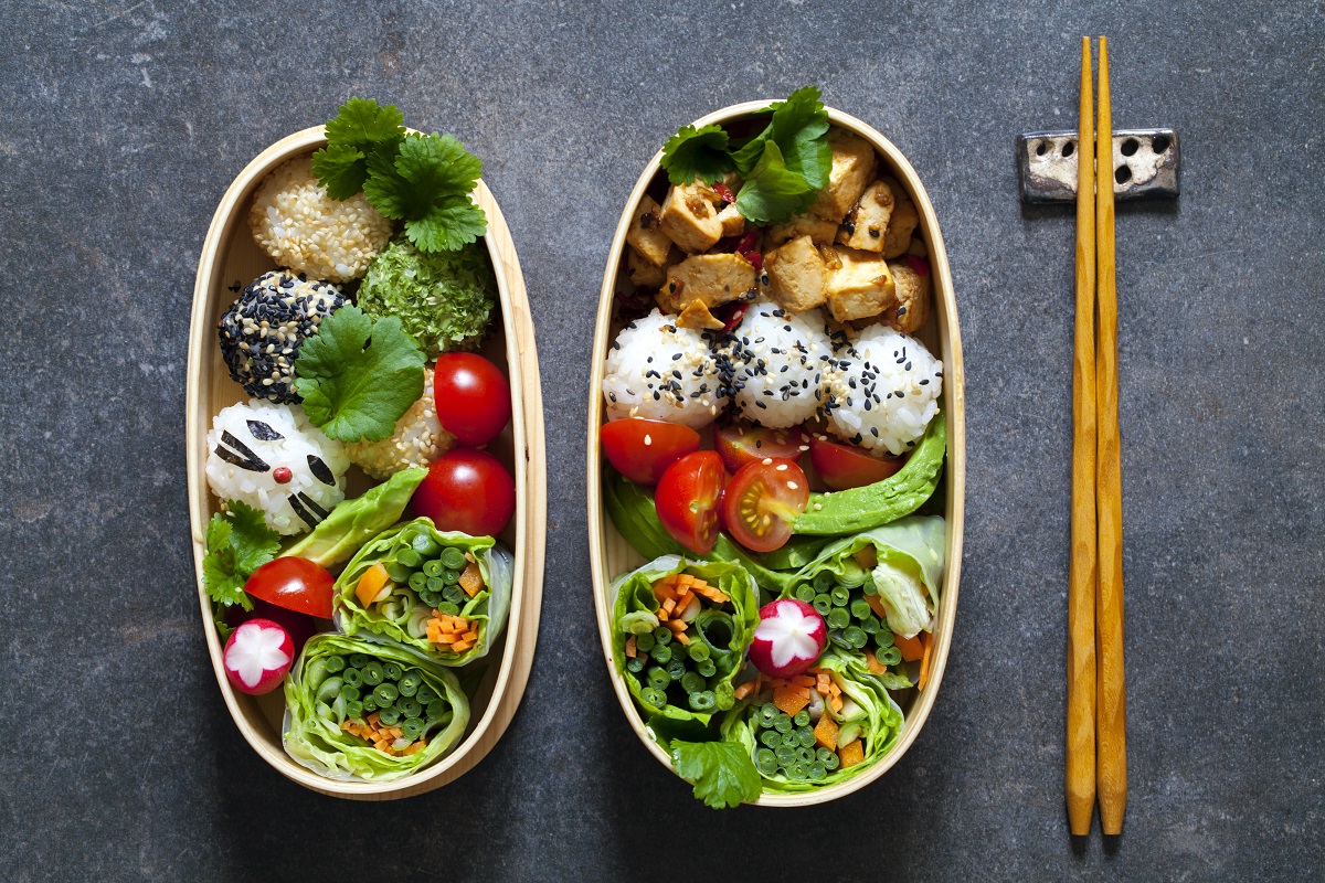
[[[207,523],[217,511],[204,474],[207,432],[212,417],[227,405],[245,398],[242,388],[229,379],[217,346],[216,324],[244,285],[273,269],[272,259],[257,246],[248,226],[253,192],[273,168],[285,160],[310,154],[326,144],[322,126],[306,128],[262,151],[231,184],[212,217],[193,289],[189,322],[187,434],[188,500],[193,534],[193,564],[199,601],[212,669],[225,707],[253,749],[282,776],[323,794],[351,800],[394,800],[420,794],[458,778],[492,751],[519,706],[538,638],[538,616],[543,588],[543,551],[547,515],[547,482],[543,461],[543,406],[534,349],[534,324],[529,311],[525,281],[519,271],[515,245],[497,201],[480,180],[474,201],[488,216],[484,241],[492,257],[500,293],[500,315],[482,353],[502,367],[511,388],[511,422],[490,446],[515,477],[515,516],[501,535],[515,556],[514,594],[506,631],[497,654],[472,698],[472,716],[460,744],[443,759],[411,776],[391,782],[337,781],[325,778],[292,760],[281,744],[285,703],[281,691],[265,696],[237,692],[225,676],[223,643],[212,627],[211,601],[203,589],[203,556],[207,553]],[[350,482],[350,495],[367,488],[366,479]]]

